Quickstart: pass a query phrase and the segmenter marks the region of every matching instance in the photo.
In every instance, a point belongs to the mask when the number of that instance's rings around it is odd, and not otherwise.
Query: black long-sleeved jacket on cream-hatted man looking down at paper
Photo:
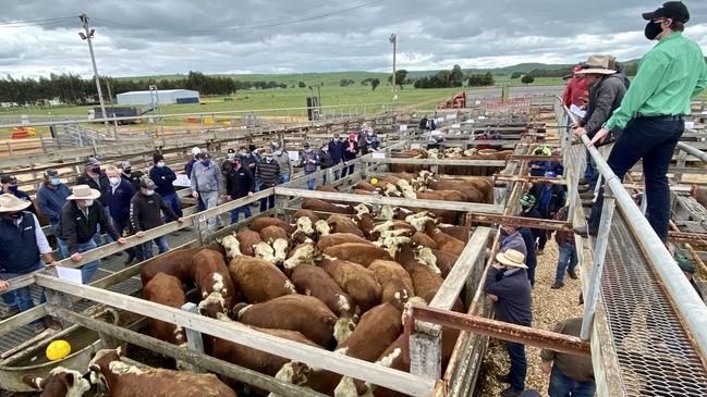
[[[88,218],[84,215],[83,211],[74,200],[69,200],[61,209],[61,220],[59,221],[59,238],[66,241],[69,247],[69,255],[78,252],[78,245],[88,243],[94,236],[100,225],[100,229],[113,237],[114,240],[120,238],[110,221],[103,212],[103,204],[95,200],[94,204],[88,210]]]

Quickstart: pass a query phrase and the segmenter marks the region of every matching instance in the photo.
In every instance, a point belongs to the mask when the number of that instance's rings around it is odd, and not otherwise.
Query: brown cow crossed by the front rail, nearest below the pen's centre
[[[308,345],[312,347],[320,347],[314,342],[307,339],[302,333],[289,330],[269,330],[258,328],[252,326],[253,330],[296,342],[300,344]],[[212,356],[217,359],[234,363],[236,365],[245,367],[249,370],[259,373],[275,376],[275,374],[290,360],[280,356],[271,355],[261,350],[257,350],[244,345],[234,344],[229,340],[211,337]]]

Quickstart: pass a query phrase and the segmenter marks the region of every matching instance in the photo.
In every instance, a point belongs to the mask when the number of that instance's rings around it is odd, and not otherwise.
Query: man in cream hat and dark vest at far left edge
[[[12,278],[44,269],[40,256],[52,266],[59,264],[51,255],[51,247],[37,216],[25,211],[31,204],[32,201],[21,200],[12,195],[0,196],[0,294],[5,305],[11,308],[9,315],[35,306],[29,287],[5,293],[12,286]],[[39,302],[44,303],[46,300],[42,294]],[[37,334],[46,328],[41,320],[36,320],[29,325]]]

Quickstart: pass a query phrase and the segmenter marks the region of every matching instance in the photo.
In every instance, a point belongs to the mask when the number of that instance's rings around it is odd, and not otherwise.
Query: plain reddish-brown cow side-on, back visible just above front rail
[[[285,295],[255,305],[240,303],[234,313],[244,324],[298,331],[325,348],[333,346],[334,325],[339,320],[321,300],[305,295]]]

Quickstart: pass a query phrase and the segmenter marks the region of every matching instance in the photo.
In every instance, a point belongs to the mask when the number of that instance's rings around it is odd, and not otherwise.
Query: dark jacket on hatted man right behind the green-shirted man
[[[621,106],[625,94],[626,85],[621,76],[615,74],[602,77],[589,88],[587,113],[580,121],[580,125],[587,131],[587,136],[593,137],[611,117],[613,111]],[[621,128],[614,128],[611,133],[618,135]]]

